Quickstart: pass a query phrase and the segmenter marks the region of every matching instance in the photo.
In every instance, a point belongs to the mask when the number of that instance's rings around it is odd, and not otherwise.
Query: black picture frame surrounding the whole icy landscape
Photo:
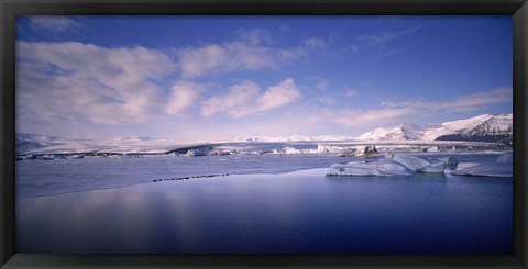
[[[1,0],[1,268],[527,268],[528,3],[526,0]],[[514,253],[512,255],[47,255],[14,248],[14,86],[16,15],[512,15],[514,41]]]

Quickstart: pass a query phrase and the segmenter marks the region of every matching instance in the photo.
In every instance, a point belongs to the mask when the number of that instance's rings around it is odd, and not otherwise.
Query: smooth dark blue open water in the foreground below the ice
[[[18,253],[506,254],[510,178],[326,169],[136,184],[16,202]]]

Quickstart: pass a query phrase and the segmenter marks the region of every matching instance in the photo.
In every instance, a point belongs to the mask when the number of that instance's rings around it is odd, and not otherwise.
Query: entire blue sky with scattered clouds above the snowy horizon
[[[513,111],[510,16],[19,16],[16,132],[359,136]]]

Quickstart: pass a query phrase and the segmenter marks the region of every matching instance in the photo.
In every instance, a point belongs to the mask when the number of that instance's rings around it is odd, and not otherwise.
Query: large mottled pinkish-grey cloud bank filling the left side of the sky
[[[143,122],[162,102],[154,81],[175,68],[166,55],[144,47],[16,42],[16,115],[37,122]]]

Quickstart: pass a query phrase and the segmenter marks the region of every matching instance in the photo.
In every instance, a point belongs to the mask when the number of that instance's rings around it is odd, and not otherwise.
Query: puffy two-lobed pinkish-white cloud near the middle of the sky
[[[231,87],[227,94],[212,97],[205,101],[201,113],[205,116],[211,116],[226,112],[233,117],[242,117],[283,108],[300,98],[300,90],[292,78],[268,87],[262,94],[256,83],[243,81]]]

